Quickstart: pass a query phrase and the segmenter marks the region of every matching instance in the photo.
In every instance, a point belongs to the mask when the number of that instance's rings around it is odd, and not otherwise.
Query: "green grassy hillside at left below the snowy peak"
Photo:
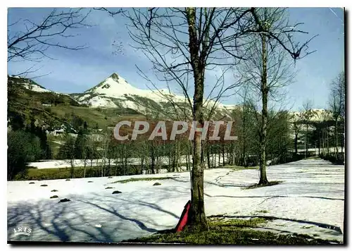
[[[20,116],[25,123],[30,123],[30,119],[34,118],[39,125],[54,127],[65,124],[72,128],[86,122],[88,128],[106,130],[108,126],[114,126],[120,116],[138,114],[132,109],[84,106],[67,94],[34,92],[27,89],[23,85],[24,82],[37,85],[36,82],[25,78],[8,77],[8,119]]]

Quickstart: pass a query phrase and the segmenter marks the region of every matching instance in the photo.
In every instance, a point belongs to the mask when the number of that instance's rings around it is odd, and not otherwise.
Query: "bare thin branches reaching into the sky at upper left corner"
[[[71,30],[89,26],[85,23],[88,15],[89,11],[82,14],[81,8],[70,8],[68,11],[58,11],[54,8],[39,23],[18,19],[15,23],[8,24],[7,61],[38,62],[44,57],[51,59],[46,53],[50,47],[69,50],[86,48],[62,43],[61,38],[75,37],[77,34],[73,34]]]

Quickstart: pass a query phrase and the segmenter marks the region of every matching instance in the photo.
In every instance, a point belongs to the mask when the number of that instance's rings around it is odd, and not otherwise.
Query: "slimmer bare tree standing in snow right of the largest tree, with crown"
[[[303,31],[296,30],[297,25],[289,25],[284,8],[254,8],[251,13],[255,20],[253,27],[256,30],[251,32],[251,37],[248,37],[251,42],[247,48],[251,51],[251,56],[241,63],[239,71],[249,80],[253,93],[259,97],[256,101],[261,103],[261,113],[258,118],[260,125],[259,184],[267,185],[266,145],[270,123],[268,104],[270,100],[282,102],[284,87],[294,78],[294,72],[291,71],[292,63],[289,63],[287,56],[296,60],[310,54],[310,51],[302,53],[302,49],[308,48],[310,39],[304,44],[292,41],[292,33]]]

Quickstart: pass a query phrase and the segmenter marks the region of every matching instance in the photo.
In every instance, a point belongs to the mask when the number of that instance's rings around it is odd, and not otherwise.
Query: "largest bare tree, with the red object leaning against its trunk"
[[[126,15],[130,20],[130,36],[137,44],[135,48],[141,49],[153,63],[159,80],[181,88],[191,110],[191,119],[201,126],[206,71],[224,69],[234,63],[234,59],[238,61],[243,57],[245,51],[241,50],[243,44],[239,37],[251,22],[250,12],[250,8],[149,8],[133,9]],[[177,106],[175,102],[172,104]],[[206,227],[203,148],[201,135],[196,133],[189,224]]]

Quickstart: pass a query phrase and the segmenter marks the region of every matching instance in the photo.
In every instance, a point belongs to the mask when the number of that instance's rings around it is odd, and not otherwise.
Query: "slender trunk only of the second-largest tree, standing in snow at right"
[[[262,125],[260,133],[260,179],[259,185],[267,185],[268,178],[266,176],[266,134],[268,123],[268,86],[267,86],[267,51],[265,35],[260,35],[262,40],[262,62],[263,62],[263,75],[261,78],[261,92],[262,92]]]

